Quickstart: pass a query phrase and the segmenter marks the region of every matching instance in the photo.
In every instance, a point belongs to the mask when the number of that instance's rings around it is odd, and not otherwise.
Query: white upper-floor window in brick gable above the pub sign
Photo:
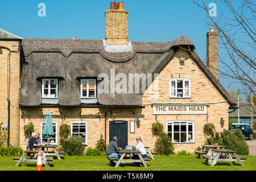
[[[191,80],[185,78],[175,78],[170,80],[171,98],[190,98]]]

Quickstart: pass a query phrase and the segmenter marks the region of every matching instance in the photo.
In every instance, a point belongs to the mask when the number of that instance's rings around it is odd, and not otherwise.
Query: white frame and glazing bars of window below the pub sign
[[[187,139],[186,142],[174,142],[174,123],[179,122],[179,130],[180,130],[180,123],[181,122],[185,122],[186,123],[186,134],[187,134]],[[172,131],[168,132],[168,124],[172,124]],[[192,141],[188,141],[188,123],[192,123]],[[195,143],[195,122],[194,121],[182,121],[182,120],[178,120],[178,121],[167,121],[166,122],[166,133],[172,133],[172,143]],[[175,132],[177,133],[177,132]],[[180,139],[181,140],[181,131],[179,131],[180,133]],[[191,132],[190,132],[191,133]]]

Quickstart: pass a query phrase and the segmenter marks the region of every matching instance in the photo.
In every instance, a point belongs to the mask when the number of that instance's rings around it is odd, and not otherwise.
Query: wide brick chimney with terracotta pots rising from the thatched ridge
[[[105,11],[105,39],[108,45],[127,46],[128,14],[123,9],[123,2],[110,3],[110,10]]]

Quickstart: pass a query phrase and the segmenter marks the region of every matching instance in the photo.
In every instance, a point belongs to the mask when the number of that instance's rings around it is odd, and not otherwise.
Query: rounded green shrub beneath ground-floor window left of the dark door
[[[82,138],[71,137],[67,140],[67,154],[68,155],[84,155],[84,144],[82,144]]]

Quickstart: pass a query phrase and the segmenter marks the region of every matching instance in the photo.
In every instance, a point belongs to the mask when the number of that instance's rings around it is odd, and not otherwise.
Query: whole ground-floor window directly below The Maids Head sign
[[[192,121],[168,121],[166,133],[172,138],[172,143],[194,143],[195,127]]]

